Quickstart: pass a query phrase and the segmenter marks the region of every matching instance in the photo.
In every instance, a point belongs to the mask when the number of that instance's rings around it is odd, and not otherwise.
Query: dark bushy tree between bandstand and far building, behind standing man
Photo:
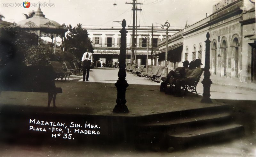
[[[77,26],[68,26],[69,33],[67,34],[67,39],[65,41],[66,50],[72,53],[76,58],[82,58],[86,49],[93,52],[92,41],[88,37],[88,32],[82,27],[82,24],[77,24]]]

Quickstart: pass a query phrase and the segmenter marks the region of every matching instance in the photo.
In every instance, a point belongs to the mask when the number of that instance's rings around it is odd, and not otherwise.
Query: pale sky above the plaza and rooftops
[[[212,6],[220,0],[137,0],[142,11],[138,11],[138,26],[160,26],[166,20],[171,26],[184,27],[204,19],[206,13],[212,13]],[[0,0],[0,14],[5,21],[18,23],[25,19],[23,13],[36,11],[37,7],[3,7],[3,3],[23,3],[21,0]],[[52,3],[54,7],[42,7],[46,18],[66,25],[81,23],[84,26],[120,26],[113,21],[126,20],[132,26],[132,0],[30,0],[32,3]],[[114,6],[113,4],[117,5]]]

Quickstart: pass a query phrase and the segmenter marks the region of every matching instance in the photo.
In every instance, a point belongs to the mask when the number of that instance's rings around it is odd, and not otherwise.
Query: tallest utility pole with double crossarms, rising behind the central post
[[[133,8],[132,8],[132,11],[133,11],[133,18],[132,18],[132,58],[131,58],[131,65],[134,64],[134,48],[135,48],[135,10],[142,10],[142,9],[138,9],[136,7],[137,4],[142,4],[142,3],[135,3],[136,0],[133,0],[133,3],[127,3],[125,2],[125,4],[132,4],[133,5]],[[128,26],[129,27],[129,26]],[[137,36],[136,36],[137,38]]]

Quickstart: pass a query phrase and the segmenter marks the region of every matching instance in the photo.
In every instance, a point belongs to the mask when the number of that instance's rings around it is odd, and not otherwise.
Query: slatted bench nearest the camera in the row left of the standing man
[[[69,79],[69,76],[72,74],[71,71],[64,71],[63,70],[63,64],[61,64],[60,62],[54,62],[54,61],[50,61],[50,64],[52,66],[52,69],[54,71],[54,76],[55,78],[54,79],[63,79],[68,77]]]

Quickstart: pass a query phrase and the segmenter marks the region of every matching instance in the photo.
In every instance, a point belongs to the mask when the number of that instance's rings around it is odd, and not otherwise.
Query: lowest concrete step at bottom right
[[[198,127],[185,132],[170,132],[167,137],[169,146],[179,149],[237,138],[243,134],[243,125],[230,123],[226,125]]]

